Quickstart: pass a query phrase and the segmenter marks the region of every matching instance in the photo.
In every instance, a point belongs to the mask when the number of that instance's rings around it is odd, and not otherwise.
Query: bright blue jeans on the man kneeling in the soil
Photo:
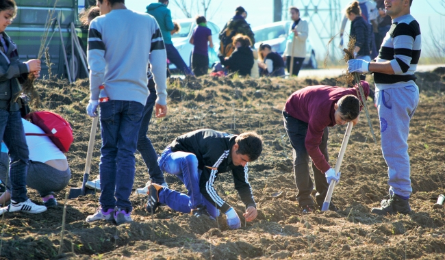
[[[190,213],[191,209],[199,206],[207,207],[210,216],[217,218],[219,210],[214,203],[209,202],[199,192],[199,178],[201,170],[198,169],[198,159],[193,153],[175,152],[168,146],[159,161],[161,170],[174,174],[187,187],[188,195],[164,187],[159,194],[160,203],[166,204],[175,211]]]

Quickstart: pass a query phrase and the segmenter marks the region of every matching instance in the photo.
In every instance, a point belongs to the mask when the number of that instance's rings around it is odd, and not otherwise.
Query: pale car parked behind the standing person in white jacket
[[[283,55],[286,49],[286,42],[288,40],[289,27],[292,21],[281,21],[276,23],[268,23],[252,28],[255,34],[255,49],[259,48],[259,44],[269,44],[272,51],[276,51],[279,55]],[[310,32],[309,32],[310,34]],[[307,38],[306,42],[306,57],[303,62],[305,68],[317,68],[317,60],[315,50]]]

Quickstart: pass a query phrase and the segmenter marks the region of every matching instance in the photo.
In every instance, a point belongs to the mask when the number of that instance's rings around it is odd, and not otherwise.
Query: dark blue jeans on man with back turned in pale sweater
[[[112,100],[100,103],[101,196],[104,210],[118,207],[131,211],[136,144],[144,105],[136,101]],[[116,198],[115,198],[116,197]]]

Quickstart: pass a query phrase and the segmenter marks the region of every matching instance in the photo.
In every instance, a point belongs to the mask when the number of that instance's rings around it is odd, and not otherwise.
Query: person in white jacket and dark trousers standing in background
[[[283,60],[286,62],[288,72],[291,75],[298,76],[306,57],[306,40],[309,35],[309,25],[307,25],[307,21],[300,18],[300,10],[298,8],[292,6],[289,10],[290,18],[292,18],[294,23],[289,28],[289,38],[283,53]],[[292,57],[294,57],[294,66],[291,73],[290,64]]]

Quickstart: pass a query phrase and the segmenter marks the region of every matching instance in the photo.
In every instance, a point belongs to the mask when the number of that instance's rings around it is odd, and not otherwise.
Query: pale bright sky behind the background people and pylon
[[[196,0],[186,0],[186,2],[196,2]],[[198,0],[201,2],[201,0]],[[314,0],[314,2],[318,3],[320,0]],[[323,0],[328,2],[329,0]],[[323,2],[322,1],[322,2]],[[429,20],[433,25],[433,31],[440,31],[440,29],[445,30],[445,16],[441,18],[440,14],[437,14],[435,10],[427,3],[435,3],[437,6],[435,8],[437,10],[445,13],[445,8],[437,3],[440,0],[414,0],[413,5],[411,6],[411,14],[417,19],[420,24],[420,29],[422,31],[422,43],[424,46],[429,42],[431,37]],[[145,12],[147,5],[150,3],[156,3],[157,0],[125,0],[125,4],[127,8],[132,10],[136,10],[138,12]],[[179,0],[178,0],[179,2]],[[223,4],[220,5],[220,3]],[[304,5],[307,5],[310,0],[283,0],[283,2],[290,2],[296,5],[298,8],[303,9]],[[340,0],[341,7],[344,8],[346,5],[351,2],[351,0]],[[218,5],[219,8],[218,8]],[[249,16],[247,17],[248,23],[252,25],[252,27],[258,25],[264,25],[266,23],[272,23],[273,19],[273,0],[212,0],[209,10],[207,11],[207,20],[216,23],[216,25],[223,27],[225,23],[229,20],[233,13],[235,12],[235,8],[239,5],[242,5],[244,9],[248,12]],[[170,4],[168,8],[172,11],[173,19],[175,18],[186,18],[183,12],[177,5],[175,5],[173,0],[170,0]],[[218,8],[218,10],[216,10]],[[192,15],[195,16],[198,14],[196,12],[196,5],[194,5]],[[203,14],[203,12],[201,12]],[[304,17],[303,17],[304,19]],[[309,30],[311,28],[309,27]],[[314,31],[314,29],[312,29]],[[348,31],[348,30],[347,30]],[[318,42],[319,40],[311,34],[309,31],[309,38],[311,38],[314,47],[316,49],[323,49],[323,46]],[[422,55],[425,55],[427,52],[422,51]],[[321,54],[321,53],[320,53]],[[318,55],[318,59],[321,59],[321,55]]]

